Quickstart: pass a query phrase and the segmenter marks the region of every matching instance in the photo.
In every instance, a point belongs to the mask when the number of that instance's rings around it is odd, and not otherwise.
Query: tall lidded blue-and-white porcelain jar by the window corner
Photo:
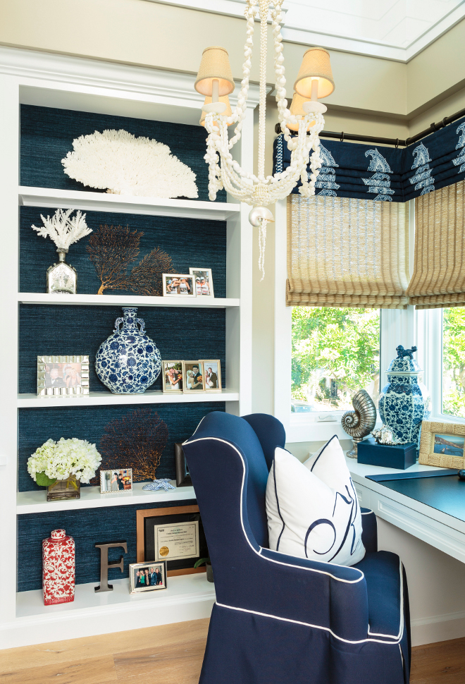
[[[416,347],[397,347],[397,358],[387,369],[387,385],[378,404],[380,418],[400,444],[416,444],[419,451],[422,420],[431,415],[431,398],[421,382],[422,372],[413,357]]]

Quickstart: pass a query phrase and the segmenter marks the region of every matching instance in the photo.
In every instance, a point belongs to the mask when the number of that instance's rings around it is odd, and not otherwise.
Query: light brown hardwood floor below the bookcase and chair
[[[208,627],[194,620],[0,651],[0,684],[197,684]],[[464,682],[465,638],[413,649],[410,684]]]

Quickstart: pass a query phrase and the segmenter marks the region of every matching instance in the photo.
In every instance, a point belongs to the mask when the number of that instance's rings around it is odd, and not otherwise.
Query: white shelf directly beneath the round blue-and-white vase
[[[191,394],[163,393],[161,389],[148,389],[143,394],[112,394],[111,392],[90,392],[87,396],[37,396],[18,394],[18,408],[63,408],[67,406],[104,406],[109,404],[175,404],[197,403],[199,401],[239,401],[239,392],[222,389],[221,392],[199,392]]]

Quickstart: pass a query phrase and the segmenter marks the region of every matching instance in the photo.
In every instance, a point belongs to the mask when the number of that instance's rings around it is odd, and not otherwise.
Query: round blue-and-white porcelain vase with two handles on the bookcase
[[[142,394],[159,377],[160,352],[137,318],[137,308],[123,307],[123,314],[97,350],[95,372],[113,394]]]

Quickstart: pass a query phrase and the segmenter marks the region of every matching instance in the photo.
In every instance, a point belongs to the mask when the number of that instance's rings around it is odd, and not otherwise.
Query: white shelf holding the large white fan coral
[[[82,209],[89,212],[118,212],[122,214],[150,214],[178,216],[182,219],[226,221],[240,212],[240,204],[232,202],[203,202],[202,200],[165,200],[161,197],[108,195],[81,190],[55,188],[18,188],[19,204],[23,207]]]

